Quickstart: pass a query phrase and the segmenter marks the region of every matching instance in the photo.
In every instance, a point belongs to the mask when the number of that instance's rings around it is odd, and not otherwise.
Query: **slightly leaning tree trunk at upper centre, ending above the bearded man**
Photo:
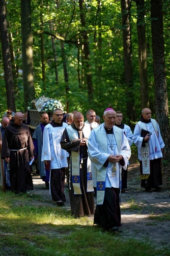
[[[88,35],[85,30],[86,22],[85,22],[85,1],[79,0],[79,8],[80,8],[80,18],[83,27],[82,32],[82,46],[83,46],[83,59],[84,59],[84,68],[85,68],[85,78],[87,84],[87,93],[88,99],[92,100],[93,98],[93,85],[92,85],[92,74],[91,74],[91,65],[90,65],[90,49],[89,49],[89,41]]]

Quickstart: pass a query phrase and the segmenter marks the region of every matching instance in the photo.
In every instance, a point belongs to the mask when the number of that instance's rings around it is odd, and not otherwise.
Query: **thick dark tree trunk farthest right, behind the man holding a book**
[[[166,67],[164,56],[164,32],[162,0],[150,0],[152,53],[155,84],[155,112],[165,143],[163,155],[170,160],[170,126]]]

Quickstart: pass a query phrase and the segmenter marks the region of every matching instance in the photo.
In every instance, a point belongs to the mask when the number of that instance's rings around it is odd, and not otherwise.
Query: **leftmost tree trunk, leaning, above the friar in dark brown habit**
[[[4,0],[0,0],[0,37],[1,37],[7,107],[11,106],[13,108],[13,111],[15,112],[16,108],[15,108],[15,97],[14,97],[14,84],[13,84],[13,77],[12,77],[12,64],[11,64],[9,36],[7,31],[6,10],[5,10]]]

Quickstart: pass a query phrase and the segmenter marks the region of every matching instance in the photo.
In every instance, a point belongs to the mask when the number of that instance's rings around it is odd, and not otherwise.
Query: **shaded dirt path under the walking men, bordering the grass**
[[[55,202],[49,196],[44,182],[33,172],[34,190],[32,194],[43,197],[41,202],[35,201],[39,206],[54,206]],[[153,243],[156,248],[170,249],[170,184],[165,181],[160,192],[145,192],[140,187],[139,164],[130,164],[128,168],[128,193],[121,194],[121,223],[120,236],[125,238],[142,239]],[[65,208],[70,209],[68,186],[65,185]],[[159,217],[159,218],[158,218]]]

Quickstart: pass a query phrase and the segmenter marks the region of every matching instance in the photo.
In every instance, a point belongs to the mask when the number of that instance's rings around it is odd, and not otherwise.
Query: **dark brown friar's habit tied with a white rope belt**
[[[27,125],[11,122],[5,129],[1,158],[9,158],[9,173],[12,192],[33,190],[29,169],[30,157],[34,156],[34,146]]]

